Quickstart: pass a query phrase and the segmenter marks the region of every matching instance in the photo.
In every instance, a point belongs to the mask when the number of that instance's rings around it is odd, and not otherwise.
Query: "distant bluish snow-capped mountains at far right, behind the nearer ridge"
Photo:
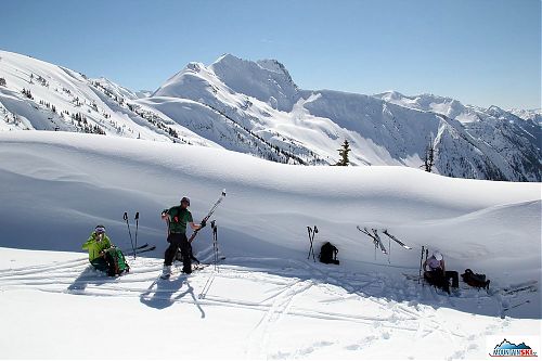
[[[537,115],[532,111],[507,112],[498,106],[480,108],[433,94],[405,96],[399,92],[386,92],[375,96],[393,104],[441,114],[460,121],[464,136],[472,141],[470,147],[474,146],[475,150],[483,153],[490,164],[496,168],[488,167],[488,171],[494,171],[494,176],[487,179],[503,177],[506,180],[541,180],[540,114]]]

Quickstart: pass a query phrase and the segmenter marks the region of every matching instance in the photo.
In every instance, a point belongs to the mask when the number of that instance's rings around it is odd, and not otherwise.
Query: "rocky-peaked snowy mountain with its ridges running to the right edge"
[[[300,90],[281,63],[249,62],[230,54],[208,67],[189,64],[155,95],[190,99],[218,109],[306,164],[335,163],[338,143],[348,139],[354,165],[417,168],[433,141],[436,172],[475,179],[542,179],[537,123],[518,121],[504,111],[495,114],[493,107],[464,106],[449,98]],[[223,121],[216,117],[214,123]],[[246,149],[230,141],[221,145]]]

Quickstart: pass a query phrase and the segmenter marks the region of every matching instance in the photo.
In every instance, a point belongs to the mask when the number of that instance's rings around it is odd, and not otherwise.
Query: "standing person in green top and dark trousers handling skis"
[[[173,206],[169,209],[165,209],[162,212],[162,219],[168,223],[168,238],[169,247],[166,249],[166,255],[164,257],[164,271],[162,276],[164,279],[169,278],[171,274],[171,263],[177,254],[177,249],[181,248],[182,255],[182,271],[184,273],[192,273],[192,260],[190,257],[190,243],[186,238],[186,223],[194,230],[201,230],[205,227],[205,220],[201,224],[194,224],[192,219],[192,214],[188,209],[190,207],[190,199],[188,197],[182,197],[180,206]]]

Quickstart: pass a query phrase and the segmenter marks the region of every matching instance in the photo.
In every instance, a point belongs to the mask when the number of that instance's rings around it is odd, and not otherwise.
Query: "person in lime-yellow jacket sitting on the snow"
[[[96,225],[90,237],[82,245],[82,249],[89,250],[89,261],[99,271],[107,275],[118,275],[128,272],[129,267],[120,249],[116,248],[105,234],[105,227]]]

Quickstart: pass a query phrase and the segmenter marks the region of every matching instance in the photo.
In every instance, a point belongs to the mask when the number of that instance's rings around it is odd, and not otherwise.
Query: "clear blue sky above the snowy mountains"
[[[279,60],[302,89],[541,107],[540,0],[2,0],[0,13],[0,49],[133,90],[232,53]]]

